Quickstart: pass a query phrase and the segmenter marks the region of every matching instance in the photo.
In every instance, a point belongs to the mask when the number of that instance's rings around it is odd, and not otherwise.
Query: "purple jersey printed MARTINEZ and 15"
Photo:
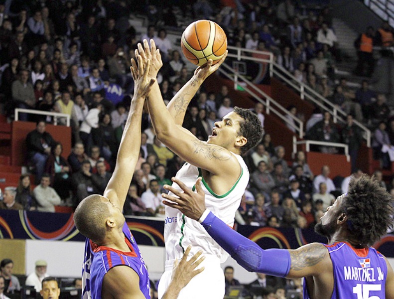
[[[386,298],[387,264],[383,255],[373,247],[355,249],[347,242],[325,245],[334,272],[331,299]],[[304,299],[309,299],[304,281]]]

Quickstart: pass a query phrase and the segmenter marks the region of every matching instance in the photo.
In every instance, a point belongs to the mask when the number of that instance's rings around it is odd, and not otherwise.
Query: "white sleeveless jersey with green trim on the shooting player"
[[[245,161],[240,155],[233,154],[237,157],[242,170],[238,180],[227,193],[223,195],[215,194],[204,178],[202,180],[207,208],[231,227],[234,225],[235,212],[240,206],[242,195],[249,182],[249,170]],[[199,176],[202,176],[201,170],[189,163],[185,163],[176,173],[176,178],[180,179],[190,189],[194,188]],[[180,190],[175,183],[172,184],[172,187]],[[195,254],[197,251],[202,250],[205,255],[217,256],[221,263],[226,261],[229,254],[211,238],[200,223],[169,206],[165,207],[165,216],[164,241],[167,261],[172,261],[176,258],[181,259],[183,251],[188,245],[192,245],[190,254]]]

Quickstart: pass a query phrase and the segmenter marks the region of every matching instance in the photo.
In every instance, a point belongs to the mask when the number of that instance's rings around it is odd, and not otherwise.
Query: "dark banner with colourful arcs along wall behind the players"
[[[170,219],[172,221],[172,219]],[[164,246],[164,224],[167,220],[126,217],[139,245]],[[313,229],[271,228],[239,225],[237,231],[263,249],[296,249],[312,242],[326,242]],[[85,241],[76,229],[73,214],[0,210],[0,239]],[[394,235],[388,234],[374,247],[387,257],[394,257]]]

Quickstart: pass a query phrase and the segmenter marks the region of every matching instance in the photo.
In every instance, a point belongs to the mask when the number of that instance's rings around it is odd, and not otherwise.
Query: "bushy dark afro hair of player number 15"
[[[362,246],[372,245],[393,227],[393,198],[379,182],[367,174],[352,178],[342,208],[348,229]]]

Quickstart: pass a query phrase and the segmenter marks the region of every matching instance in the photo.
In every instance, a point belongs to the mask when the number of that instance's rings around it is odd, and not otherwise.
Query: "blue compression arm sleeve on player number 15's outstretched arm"
[[[246,270],[278,277],[286,277],[289,273],[291,260],[287,250],[263,250],[255,242],[226,225],[212,212],[201,224],[208,234]]]

